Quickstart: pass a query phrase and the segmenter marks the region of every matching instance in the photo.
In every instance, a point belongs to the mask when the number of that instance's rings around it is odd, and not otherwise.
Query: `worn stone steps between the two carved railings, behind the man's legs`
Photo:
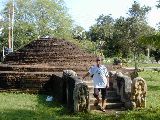
[[[94,106],[94,102],[96,101],[96,99],[93,96],[94,87],[93,87],[92,80],[85,80],[84,82],[88,85],[89,91],[90,91],[90,109],[100,110],[99,105],[101,105],[101,101],[98,106]],[[120,96],[117,95],[116,90],[114,90],[112,86],[110,86],[110,88],[107,89],[105,106],[106,106],[105,107],[106,110],[123,110],[124,109],[124,103],[120,101]]]

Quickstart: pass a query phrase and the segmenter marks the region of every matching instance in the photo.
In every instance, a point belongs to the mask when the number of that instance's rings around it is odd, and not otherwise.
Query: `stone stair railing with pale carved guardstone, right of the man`
[[[131,80],[122,73],[111,72],[113,88],[117,90],[121,102],[126,109],[142,108],[146,106],[147,84],[143,78]]]

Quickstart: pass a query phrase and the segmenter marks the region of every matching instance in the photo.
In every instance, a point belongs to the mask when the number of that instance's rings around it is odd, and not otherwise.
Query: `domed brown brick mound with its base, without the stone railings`
[[[51,90],[48,86],[55,84],[55,76],[56,80],[62,77],[63,70],[74,70],[82,76],[95,58],[67,40],[40,38],[6,56],[0,64],[0,89],[36,93]]]

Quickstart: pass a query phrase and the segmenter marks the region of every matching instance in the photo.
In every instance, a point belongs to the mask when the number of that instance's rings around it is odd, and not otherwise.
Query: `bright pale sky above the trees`
[[[64,0],[68,7],[69,14],[76,25],[82,26],[85,30],[96,23],[99,15],[111,14],[113,18],[120,16],[127,17],[128,9],[131,8],[134,0]],[[157,0],[136,0],[141,6],[150,6],[152,10],[147,15],[147,21],[152,27],[157,27],[160,22],[160,8],[157,9]]]

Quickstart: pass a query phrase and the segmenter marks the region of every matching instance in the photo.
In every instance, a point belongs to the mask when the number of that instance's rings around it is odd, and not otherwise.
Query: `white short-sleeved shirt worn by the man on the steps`
[[[107,77],[108,71],[107,68],[104,65],[100,65],[97,67],[97,65],[92,66],[89,71],[91,76],[93,76],[93,84],[94,88],[106,88],[107,85]]]

